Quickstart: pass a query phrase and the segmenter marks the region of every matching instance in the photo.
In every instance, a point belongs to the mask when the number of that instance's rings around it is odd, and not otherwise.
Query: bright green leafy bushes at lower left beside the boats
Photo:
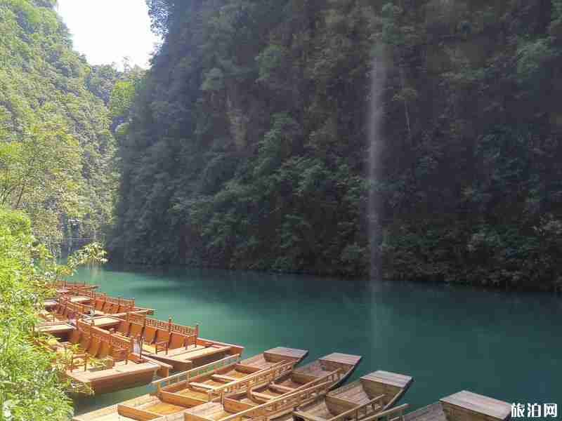
[[[67,420],[66,385],[52,355],[34,345],[49,272],[32,243],[30,220],[0,208],[0,419]]]

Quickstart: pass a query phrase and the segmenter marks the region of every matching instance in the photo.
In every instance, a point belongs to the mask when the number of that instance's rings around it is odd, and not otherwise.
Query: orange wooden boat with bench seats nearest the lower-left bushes
[[[95,394],[147,385],[155,374],[168,375],[170,366],[132,352],[128,338],[111,335],[93,323],[76,321],[68,342],[51,344],[65,359],[65,374]]]

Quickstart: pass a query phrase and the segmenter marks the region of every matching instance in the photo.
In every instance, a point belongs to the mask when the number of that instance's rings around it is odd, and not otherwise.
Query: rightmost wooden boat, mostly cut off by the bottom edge
[[[505,421],[511,404],[463,390],[402,416],[404,421]],[[371,421],[371,420],[365,420]]]

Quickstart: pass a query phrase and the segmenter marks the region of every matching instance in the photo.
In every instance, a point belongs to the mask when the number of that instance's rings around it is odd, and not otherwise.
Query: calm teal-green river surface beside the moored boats
[[[562,410],[562,299],[421,283],[214,269],[104,267],[77,279],[135,298],[158,319],[200,323],[202,338],[244,345],[243,358],[283,346],[362,355],[374,370],[412,375],[411,409],[460,390]],[[348,382],[350,381],[348,380]],[[77,414],[150,392],[80,399]]]

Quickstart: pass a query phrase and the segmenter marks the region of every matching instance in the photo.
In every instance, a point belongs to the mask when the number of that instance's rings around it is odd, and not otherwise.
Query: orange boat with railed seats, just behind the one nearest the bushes
[[[187,371],[226,356],[242,354],[244,347],[199,337],[199,325],[183,326],[151,319],[146,314],[126,313],[119,316],[117,333],[126,338],[140,338],[143,355]]]

